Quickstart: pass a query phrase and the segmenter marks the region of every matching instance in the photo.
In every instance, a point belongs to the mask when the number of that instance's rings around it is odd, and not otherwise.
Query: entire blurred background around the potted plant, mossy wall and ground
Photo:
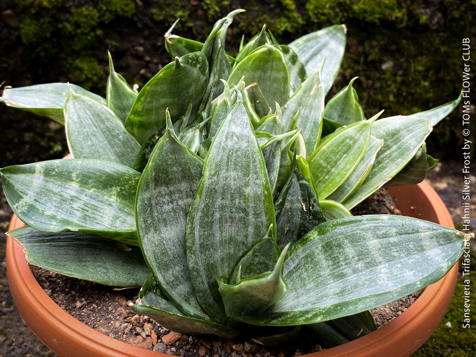
[[[242,36],[249,40],[263,24],[285,44],[344,23],[347,47],[327,99],[359,77],[354,88],[367,117],[382,109],[383,116],[412,114],[456,99],[462,89],[462,40],[470,38],[473,53],[466,63],[471,66],[472,126],[466,139],[476,141],[476,0],[1,0],[0,83],[3,88],[70,82],[105,96],[109,50],[115,70],[140,88],[170,61],[163,35],[177,18],[174,34],[204,41],[217,19],[238,8],[246,12],[236,16],[229,29],[231,55],[237,53]],[[457,226],[461,226],[461,117],[459,106],[427,139],[428,153],[441,160],[430,182]],[[60,158],[67,150],[60,124],[0,107],[0,167]],[[475,185],[473,180],[473,190]],[[11,212],[5,197],[0,200],[3,233]],[[472,209],[474,217],[474,204]],[[4,255],[5,236],[0,238]],[[474,272],[474,260],[472,264]],[[51,355],[15,315],[5,266],[1,269],[0,355]],[[475,285],[473,274],[473,315]],[[459,287],[453,315],[450,309],[437,333],[415,356],[476,355],[474,327],[463,330],[457,321],[461,317]]]

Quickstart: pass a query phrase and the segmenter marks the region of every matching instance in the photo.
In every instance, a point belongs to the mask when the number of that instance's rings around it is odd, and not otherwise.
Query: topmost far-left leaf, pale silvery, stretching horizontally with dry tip
[[[101,104],[106,100],[86,89],[69,83],[38,84],[20,88],[5,88],[0,101],[12,108],[47,116],[64,124],[63,109],[71,91],[90,97]]]

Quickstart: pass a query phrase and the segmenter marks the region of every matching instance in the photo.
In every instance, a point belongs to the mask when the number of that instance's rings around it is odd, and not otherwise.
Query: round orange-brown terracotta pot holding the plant
[[[443,202],[426,182],[389,190],[404,215],[453,227]],[[23,223],[14,216],[10,230]],[[24,320],[40,340],[60,356],[168,356],[128,345],[74,319],[50,299],[36,282],[20,244],[8,237],[7,269],[10,290]],[[306,354],[329,356],[407,357],[433,333],[453,297],[457,264],[429,286],[411,307],[392,322],[358,340]]]

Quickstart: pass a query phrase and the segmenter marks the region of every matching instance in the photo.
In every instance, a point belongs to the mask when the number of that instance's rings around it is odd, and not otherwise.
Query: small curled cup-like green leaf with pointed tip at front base
[[[227,278],[217,278],[219,292],[228,317],[261,314],[280,300],[288,289],[283,279],[283,264],[289,245],[282,251],[272,271],[227,284]]]

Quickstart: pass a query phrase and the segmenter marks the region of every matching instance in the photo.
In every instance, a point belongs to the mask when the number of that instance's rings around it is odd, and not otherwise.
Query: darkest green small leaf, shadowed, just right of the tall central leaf
[[[274,204],[280,249],[294,244],[325,221],[316,194],[303,175],[294,170]]]

